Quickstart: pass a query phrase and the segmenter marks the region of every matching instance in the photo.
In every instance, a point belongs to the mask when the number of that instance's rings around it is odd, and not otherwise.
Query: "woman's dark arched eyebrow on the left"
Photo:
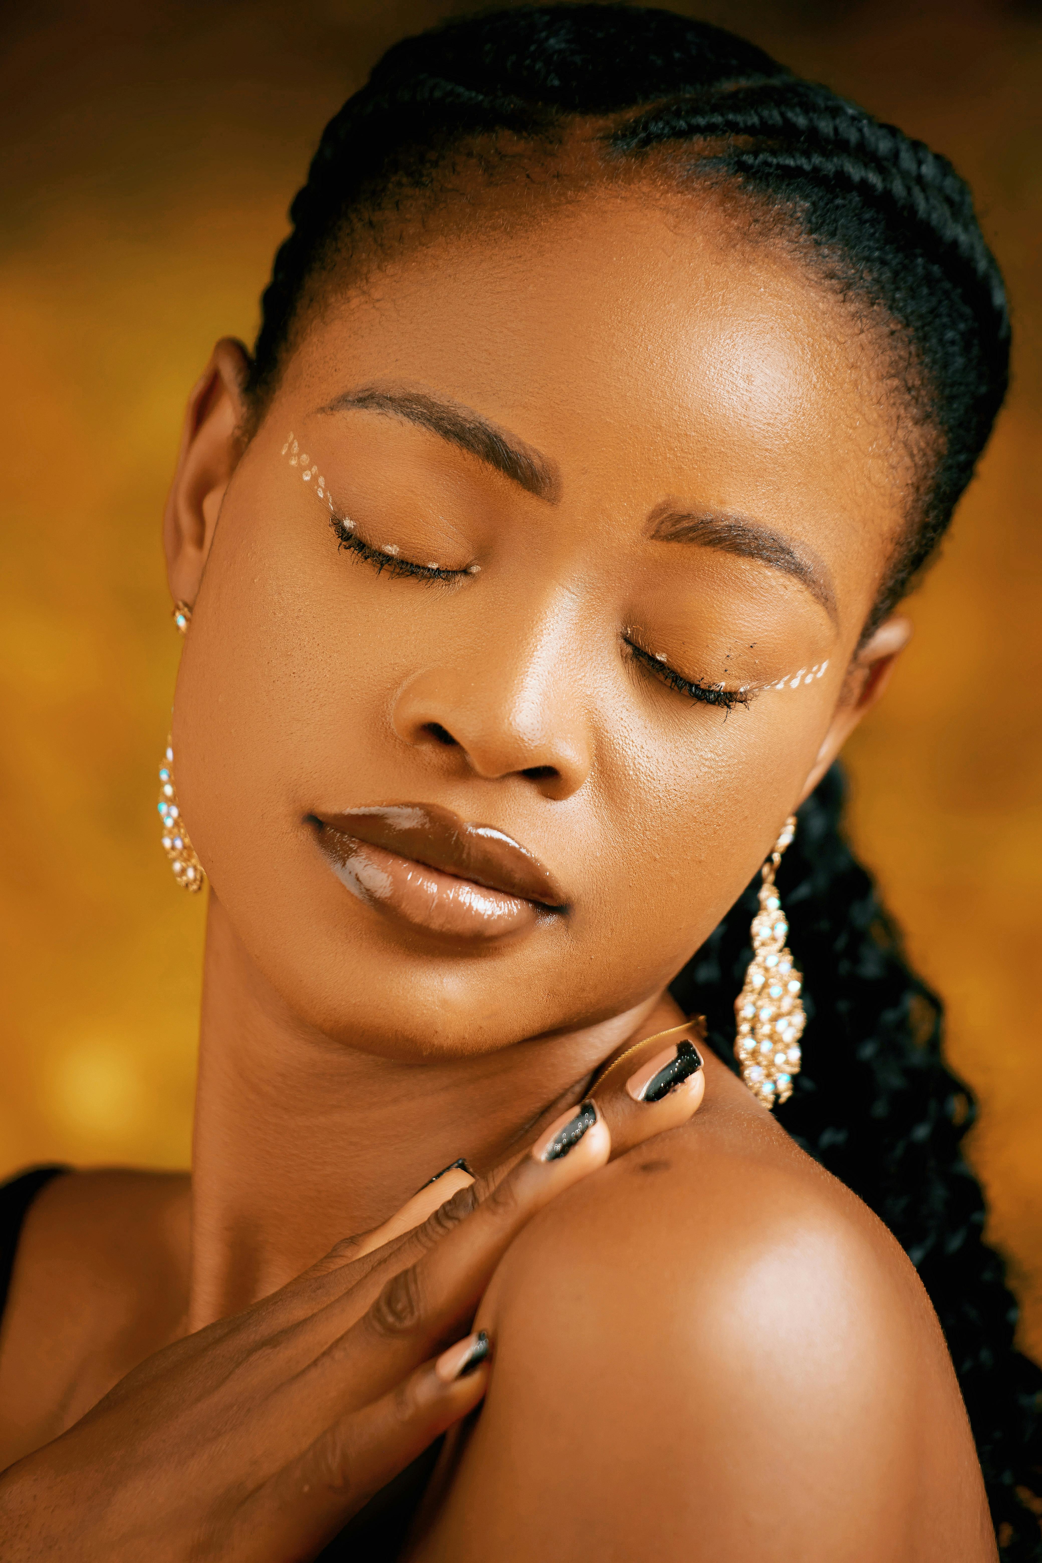
[[[553,461],[533,445],[508,435],[491,419],[470,406],[433,395],[430,391],[409,391],[395,386],[356,386],[320,408],[322,413],[384,413],[401,417],[419,428],[428,428],[448,444],[484,461],[501,472],[536,499],[556,505],[561,499],[561,477]]]

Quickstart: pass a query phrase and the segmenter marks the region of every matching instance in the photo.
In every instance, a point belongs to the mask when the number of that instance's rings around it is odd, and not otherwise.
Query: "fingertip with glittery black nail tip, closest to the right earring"
[[[591,1096],[611,1128],[612,1160],[698,1111],[706,1089],[700,1041],[705,1019],[695,1016],[628,1047],[595,1082]]]

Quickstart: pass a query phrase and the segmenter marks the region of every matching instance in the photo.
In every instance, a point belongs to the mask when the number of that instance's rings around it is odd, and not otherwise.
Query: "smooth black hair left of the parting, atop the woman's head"
[[[336,233],[366,205],[376,206],[403,167],[420,178],[425,164],[472,136],[536,134],[567,114],[616,113],[684,84],[781,70],[722,28],[605,5],[573,5],[567,14],[519,6],[394,44],[325,127],[289,208],[292,231],[261,299],[250,392],[262,402],[273,386],[308,280]]]

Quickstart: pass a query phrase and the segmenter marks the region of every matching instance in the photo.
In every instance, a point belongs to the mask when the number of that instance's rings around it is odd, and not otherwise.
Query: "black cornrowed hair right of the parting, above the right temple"
[[[790,77],[673,98],[608,139],[630,155],[709,144],[695,177],[722,177],[789,213],[833,280],[881,305],[919,359],[919,416],[939,450],[870,635],[934,553],[1006,394],[1006,292],[969,186],[922,141]]]

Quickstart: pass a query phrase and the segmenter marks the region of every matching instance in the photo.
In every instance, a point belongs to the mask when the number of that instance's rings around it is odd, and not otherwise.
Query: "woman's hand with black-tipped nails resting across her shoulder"
[[[628,1055],[633,1080],[655,1052]],[[623,1086],[603,1096],[628,1144],[689,1118],[700,1100],[700,1075],[655,1102]],[[581,1103],[506,1174],[459,1188],[422,1225],[422,1207],[442,1197],[437,1185],[405,1207],[412,1230],[380,1247],[376,1235],[347,1239],[255,1307],[150,1357],[0,1477],[0,1557],[314,1557],[478,1405],[489,1343],[466,1332],[495,1266],[611,1149],[605,1111]]]

